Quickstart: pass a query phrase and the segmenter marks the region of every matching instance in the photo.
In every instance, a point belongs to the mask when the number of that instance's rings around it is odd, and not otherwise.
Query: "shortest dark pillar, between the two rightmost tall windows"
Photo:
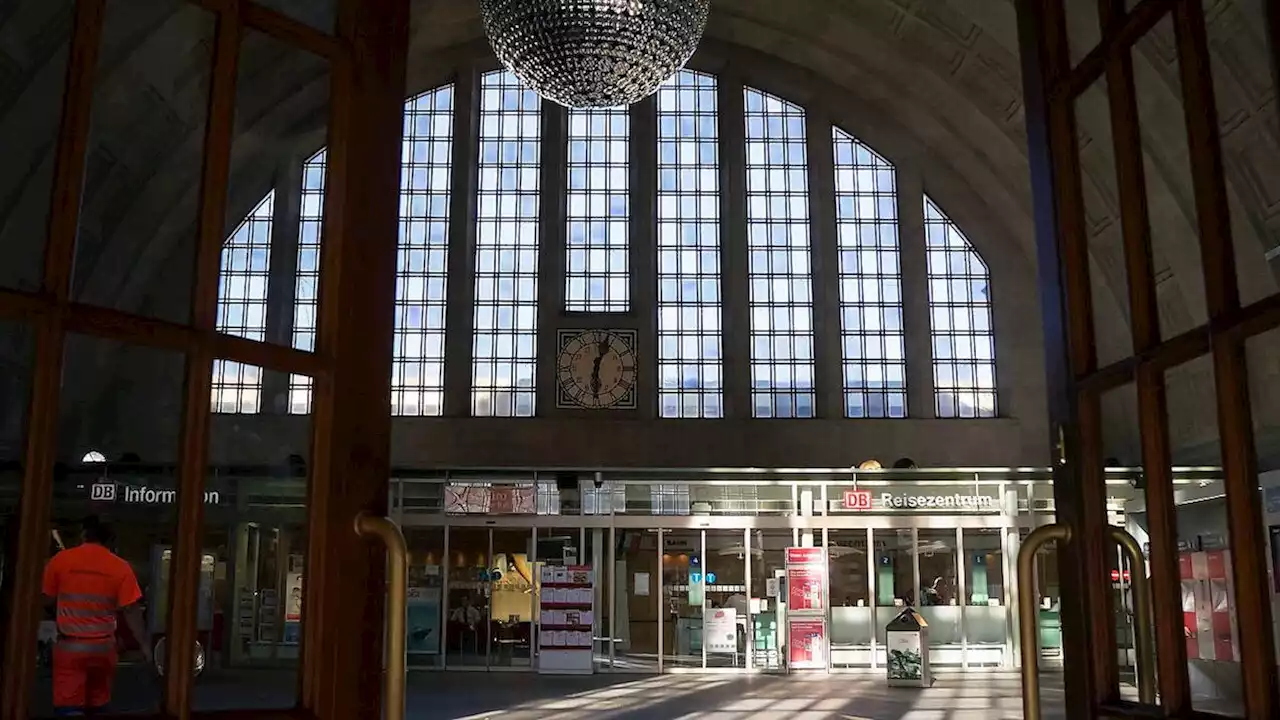
[[[902,274],[902,329],[906,346],[906,413],[937,415],[933,402],[933,340],[929,320],[929,265],[924,238],[924,178],[915,163],[897,168],[897,246]]]

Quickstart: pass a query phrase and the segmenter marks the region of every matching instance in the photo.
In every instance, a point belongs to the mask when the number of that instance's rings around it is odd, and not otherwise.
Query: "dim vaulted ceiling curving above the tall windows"
[[[1280,245],[1280,122],[1266,60],[1265,0],[1204,0],[1215,53],[1242,295],[1276,291],[1267,251]],[[333,0],[274,0],[297,17]],[[483,38],[474,0],[413,0],[411,85],[433,63]],[[1073,8],[1076,55],[1097,37],[1092,5]],[[65,67],[70,0],[0,1],[0,283],[38,275]],[[189,261],[211,24],[178,0],[111,0],[95,99],[84,223],[77,259],[82,299],[182,319],[172,301]],[[709,42],[776,58],[847,95],[867,127],[892,127],[900,151],[937,170],[931,192],[1034,265],[1016,18],[1011,0],[713,0]],[[1167,22],[1135,56],[1147,154],[1160,311],[1166,336],[1204,322],[1194,209]],[[274,138],[323,141],[323,63],[251,37],[242,53],[236,170],[228,223],[270,186]],[[416,79],[415,79],[416,78]],[[410,87],[408,92],[425,87]],[[1124,272],[1112,147],[1100,85],[1078,104],[1093,245],[1098,345],[1128,355]],[[952,178],[945,181],[943,178]],[[957,182],[959,181],[959,182]],[[934,182],[927,173],[927,187]],[[950,186],[947,184],[950,182]],[[1199,383],[1203,386],[1203,380]],[[1203,388],[1196,391],[1203,395]],[[1208,392],[1212,392],[1211,384]],[[1211,396],[1210,396],[1211,397]],[[1175,437],[1206,439],[1188,421]]]

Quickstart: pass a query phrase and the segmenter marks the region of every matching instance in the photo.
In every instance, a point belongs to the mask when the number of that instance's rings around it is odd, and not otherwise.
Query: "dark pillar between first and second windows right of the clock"
[[[742,78],[717,83],[721,178],[721,338],[724,416],[751,416],[750,255],[746,250],[746,124]]]

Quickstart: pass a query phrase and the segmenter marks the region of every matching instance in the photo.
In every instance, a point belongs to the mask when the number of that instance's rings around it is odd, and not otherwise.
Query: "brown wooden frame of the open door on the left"
[[[315,383],[310,571],[298,705],[293,710],[193,714],[192,657],[174,653],[159,716],[381,716],[384,555],[356,536],[353,519],[358,510],[387,511],[390,378],[385,369],[390,366],[393,337],[408,0],[339,0],[334,33],[248,0],[186,1],[209,10],[216,23],[192,315],[186,323],[165,322],[84,305],[72,293],[106,0],[76,1],[41,288],[0,288],[0,320],[29,327],[36,338],[13,582],[5,583],[9,597],[0,603],[8,609],[0,619],[0,720],[26,720],[29,712],[68,333],[184,355],[175,562],[166,626],[179,646],[196,635],[214,359],[303,374]],[[332,179],[315,352],[216,332],[237,61],[247,29],[324,58],[332,68]],[[355,633],[352,618],[360,619]]]

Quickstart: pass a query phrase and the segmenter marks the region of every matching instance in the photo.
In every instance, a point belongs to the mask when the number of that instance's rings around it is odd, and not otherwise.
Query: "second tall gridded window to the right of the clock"
[[[751,411],[814,415],[813,274],[804,110],[746,88]]]

